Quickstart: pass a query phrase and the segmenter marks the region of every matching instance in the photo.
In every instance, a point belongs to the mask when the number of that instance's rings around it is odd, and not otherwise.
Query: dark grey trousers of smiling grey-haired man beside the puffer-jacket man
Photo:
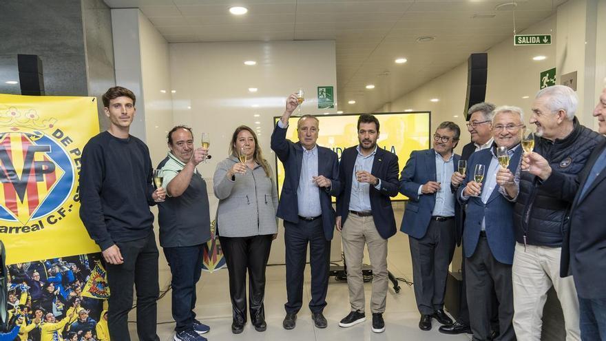
[[[492,291],[499,300],[499,336],[494,340],[516,340],[512,318],[514,300],[512,266],[503,264],[492,256],[485,236],[480,236],[476,251],[465,259],[467,271],[467,304],[473,340],[490,340],[490,316],[492,316]]]

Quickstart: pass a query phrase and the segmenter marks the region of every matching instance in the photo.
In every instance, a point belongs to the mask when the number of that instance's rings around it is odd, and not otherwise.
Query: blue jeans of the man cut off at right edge
[[[581,340],[606,340],[606,298],[582,298],[578,296],[581,318]]]

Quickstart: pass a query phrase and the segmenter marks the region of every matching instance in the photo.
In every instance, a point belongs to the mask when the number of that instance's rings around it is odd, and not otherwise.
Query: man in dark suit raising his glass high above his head
[[[284,184],[278,204],[278,218],[284,220],[286,247],[285,329],[293,329],[303,302],[303,271],[309,243],[311,301],[309,309],[315,327],[326,328],[322,314],[326,307],[331,240],[335,210],[331,196],[340,191],[337,154],[316,144],[318,120],[304,115],[297,122],[299,142],[286,139],[289,117],[299,105],[297,95],[286,99],[286,110],[271,134],[271,149],[284,165]]]

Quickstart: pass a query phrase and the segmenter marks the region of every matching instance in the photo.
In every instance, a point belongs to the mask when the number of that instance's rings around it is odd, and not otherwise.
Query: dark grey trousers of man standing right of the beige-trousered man
[[[454,219],[431,220],[423,238],[409,237],[417,308],[423,315],[443,309],[448,265],[454,254]]]

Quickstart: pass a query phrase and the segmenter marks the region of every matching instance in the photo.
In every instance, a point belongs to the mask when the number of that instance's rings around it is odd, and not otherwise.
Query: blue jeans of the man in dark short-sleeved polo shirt
[[[175,331],[191,330],[196,320],[196,283],[202,273],[202,244],[191,247],[165,247],[171,269],[172,313]]]

